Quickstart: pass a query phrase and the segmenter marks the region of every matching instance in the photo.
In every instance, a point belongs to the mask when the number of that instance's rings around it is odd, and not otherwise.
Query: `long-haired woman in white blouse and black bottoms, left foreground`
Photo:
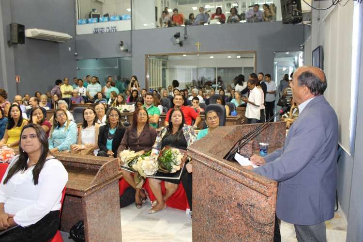
[[[59,228],[68,173],[50,154],[45,131],[39,125],[28,124],[22,129],[19,153],[0,184],[0,230],[19,226],[1,235],[0,241],[48,241]]]

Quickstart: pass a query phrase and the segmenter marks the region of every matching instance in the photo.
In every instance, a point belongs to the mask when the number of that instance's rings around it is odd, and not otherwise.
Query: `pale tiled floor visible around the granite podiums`
[[[122,242],[191,242],[192,220],[185,211],[166,208],[148,214],[151,204],[136,209],[135,204],[121,209]],[[340,211],[326,222],[327,241],[344,242],[347,237],[347,222]],[[68,233],[62,232],[64,242],[71,242]],[[297,242],[294,226],[281,222],[282,242]]]

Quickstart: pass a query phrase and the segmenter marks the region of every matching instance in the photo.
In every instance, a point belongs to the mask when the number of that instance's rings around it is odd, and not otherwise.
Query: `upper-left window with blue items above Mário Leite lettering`
[[[76,34],[131,30],[131,0],[76,0]]]

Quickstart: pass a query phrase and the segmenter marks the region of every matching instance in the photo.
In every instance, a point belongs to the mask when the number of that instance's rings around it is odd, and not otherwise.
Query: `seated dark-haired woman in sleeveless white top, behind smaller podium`
[[[83,124],[78,133],[77,145],[72,145],[72,149],[83,150],[86,148],[93,148],[93,154],[97,156],[98,151],[98,133],[100,132],[100,125],[96,123],[96,111],[88,107],[83,110]]]

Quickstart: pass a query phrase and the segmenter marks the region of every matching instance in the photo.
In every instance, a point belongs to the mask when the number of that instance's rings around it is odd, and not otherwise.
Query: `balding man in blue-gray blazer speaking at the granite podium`
[[[298,68],[290,86],[299,117],[284,147],[251,157],[260,165],[253,171],[279,182],[276,215],[294,224],[299,242],[326,242],[325,221],[334,216],[338,119],[323,96],[327,81],[321,69]]]

